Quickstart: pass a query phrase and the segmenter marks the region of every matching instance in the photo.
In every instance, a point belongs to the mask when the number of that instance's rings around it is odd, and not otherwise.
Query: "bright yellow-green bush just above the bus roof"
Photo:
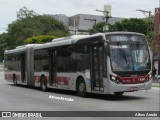
[[[54,36],[50,36],[50,35],[40,35],[40,36],[28,38],[28,39],[24,40],[24,43],[25,44],[33,44],[33,43],[40,44],[40,43],[50,42],[54,38],[55,38]]]

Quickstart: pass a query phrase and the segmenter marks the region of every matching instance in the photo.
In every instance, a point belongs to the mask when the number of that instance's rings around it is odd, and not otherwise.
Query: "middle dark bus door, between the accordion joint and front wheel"
[[[49,51],[49,80],[51,86],[57,86],[55,54],[56,51]]]

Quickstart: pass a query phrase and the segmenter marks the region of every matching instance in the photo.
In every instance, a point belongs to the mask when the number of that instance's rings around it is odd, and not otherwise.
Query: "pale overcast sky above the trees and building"
[[[8,24],[16,20],[17,12],[24,6],[38,14],[76,14],[103,15],[96,11],[104,5],[111,5],[111,16],[122,18],[144,18],[137,9],[155,13],[160,0],[0,0],[0,33],[5,32]],[[148,15],[148,14],[146,14]]]

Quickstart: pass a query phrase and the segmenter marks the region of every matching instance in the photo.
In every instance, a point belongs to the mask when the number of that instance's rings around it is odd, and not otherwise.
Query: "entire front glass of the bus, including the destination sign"
[[[110,42],[113,71],[150,70],[149,50],[144,36],[123,35],[113,38]]]

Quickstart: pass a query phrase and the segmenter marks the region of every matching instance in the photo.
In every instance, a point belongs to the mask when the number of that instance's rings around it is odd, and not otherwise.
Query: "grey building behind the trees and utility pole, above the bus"
[[[100,15],[76,14],[68,17],[63,14],[56,14],[51,16],[63,22],[73,34],[75,34],[75,32],[76,34],[86,34],[86,32],[95,24],[95,21],[105,22],[104,17]],[[93,21],[85,19],[92,19]],[[121,21],[123,19],[124,18],[111,17],[108,23],[114,24],[115,22]]]

